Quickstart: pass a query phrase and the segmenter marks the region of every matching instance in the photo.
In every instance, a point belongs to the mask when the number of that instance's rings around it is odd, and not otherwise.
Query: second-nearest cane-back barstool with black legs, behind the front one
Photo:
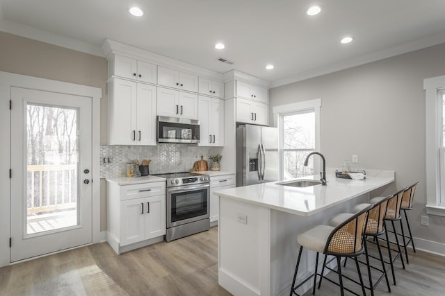
[[[376,240],[377,242],[377,247],[378,247],[378,254],[379,257],[375,258],[380,260],[380,263],[382,264],[382,269],[377,268],[373,265],[371,265],[369,263],[369,257],[371,255],[369,255],[368,253],[368,247],[366,245],[366,238],[371,236],[371,237],[377,237],[380,236],[382,234],[385,234],[385,227],[383,227],[383,218],[385,218],[385,213],[387,210],[387,205],[388,205],[388,200],[392,198],[392,195],[389,195],[387,197],[384,198],[380,198],[380,200],[378,200],[378,202],[375,202],[375,204],[373,205],[373,208],[371,209],[371,211],[369,211],[369,216],[368,216],[368,223],[366,225],[366,229],[364,230],[364,253],[366,256],[366,266],[368,268],[368,278],[369,278],[369,286],[365,286],[365,288],[368,288],[369,290],[371,290],[371,295],[374,295],[374,290],[375,287],[380,283],[380,281],[382,280],[383,277],[385,277],[385,280],[387,282],[387,288],[388,288],[388,292],[391,293],[391,287],[389,286],[389,281],[388,281],[388,275],[387,275],[387,271],[385,268],[385,261],[383,259],[382,256],[382,250],[380,248],[380,243],[378,240]],[[375,199],[377,200],[377,199]],[[361,209],[363,209],[364,207],[368,206],[369,204],[357,204],[354,207],[354,211],[360,211]],[[330,220],[330,225],[332,226],[337,226],[341,223],[342,220],[344,220],[345,218],[348,218],[350,216],[353,216],[354,214],[349,214],[349,213],[343,213],[343,214],[339,214],[337,216],[334,216],[334,218],[332,218]],[[372,257],[372,256],[371,256]],[[365,263],[365,262],[362,262]],[[345,263],[344,265],[346,265],[346,259],[345,259]],[[371,268],[373,268],[373,270],[378,270],[379,272],[381,272],[382,274],[380,275],[380,277],[378,278],[377,281],[375,281],[375,283],[373,284],[372,281],[372,277],[371,277]]]

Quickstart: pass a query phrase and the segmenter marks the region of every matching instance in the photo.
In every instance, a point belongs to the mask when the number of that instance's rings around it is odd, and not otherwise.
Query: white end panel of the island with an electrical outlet
[[[233,295],[270,294],[270,209],[220,197],[218,284]]]

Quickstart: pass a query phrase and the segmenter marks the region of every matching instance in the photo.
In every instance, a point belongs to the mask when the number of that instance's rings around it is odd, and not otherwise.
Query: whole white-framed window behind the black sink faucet
[[[320,99],[273,107],[280,129],[281,180],[314,175],[318,159],[303,164],[309,153],[320,149],[320,107]]]

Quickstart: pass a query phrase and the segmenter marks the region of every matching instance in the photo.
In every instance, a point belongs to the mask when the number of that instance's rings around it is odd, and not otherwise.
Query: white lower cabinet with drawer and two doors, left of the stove
[[[163,238],[165,213],[165,182],[108,182],[107,241],[116,253],[149,245],[152,238]],[[122,250],[132,244],[136,245]]]

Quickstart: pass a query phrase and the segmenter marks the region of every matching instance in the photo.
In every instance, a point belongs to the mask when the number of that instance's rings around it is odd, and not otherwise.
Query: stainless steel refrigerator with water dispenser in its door
[[[278,180],[278,139],[277,128],[250,124],[236,128],[236,186]]]

